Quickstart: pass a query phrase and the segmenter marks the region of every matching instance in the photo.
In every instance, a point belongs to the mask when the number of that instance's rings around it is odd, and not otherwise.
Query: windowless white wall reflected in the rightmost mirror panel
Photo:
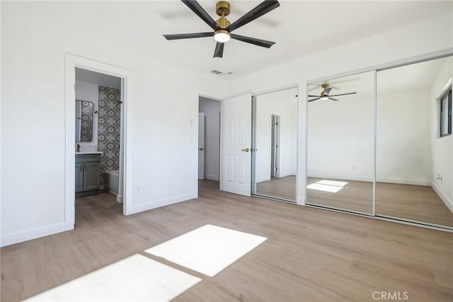
[[[386,72],[377,74],[376,179],[430,186],[429,89],[382,91]]]

